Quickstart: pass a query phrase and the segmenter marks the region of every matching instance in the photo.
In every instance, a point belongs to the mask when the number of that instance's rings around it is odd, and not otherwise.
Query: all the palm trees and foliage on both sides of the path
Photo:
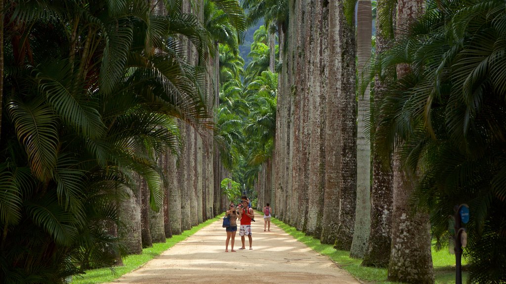
[[[178,199],[163,236],[246,193],[417,283],[434,279],[415,255],[451,245],[467,203],[468,279],[506,282],[504,1],[359,1],[358,28],[355,3],[0,0],[0,282],[120,264],[119,208],[142,191],[148,222]],[[199,146],[212,196],[185,180]]]

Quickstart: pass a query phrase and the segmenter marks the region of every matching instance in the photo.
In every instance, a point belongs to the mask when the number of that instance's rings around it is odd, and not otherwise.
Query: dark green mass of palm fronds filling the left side
[[[114,263],[116,205],[138,176],[161,206],[156,161],[179,148],[176,118],[198,131],[208,119],[204,70],[178,43],[202,62],[206,32],[179,4],[158,15],[140,0],[6,2],[3,281],[63,283]]]

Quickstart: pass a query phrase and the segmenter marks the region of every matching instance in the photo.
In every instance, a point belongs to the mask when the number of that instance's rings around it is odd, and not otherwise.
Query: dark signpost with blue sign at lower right
[[[466,228],[462,227],[462,223],[467,224],[469,222],[469,206],[467,204],[455,206],[453,219],[453,231],[455,233],[455,284],[462,284],[462,245],[466,247],[467,244]]]

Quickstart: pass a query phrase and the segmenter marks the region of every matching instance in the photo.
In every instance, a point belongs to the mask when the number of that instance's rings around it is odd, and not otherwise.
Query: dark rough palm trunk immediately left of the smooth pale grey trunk
[[[343,3],[334,3],[332,1],[329,2],[329,6],[329,17],[336,16],[337,19],[335,21],[339,22],[334,22],[338,27],[333,30],[333,40],[336,40],[336,44],[340,45],[340,53],[330,52],[329,54],[329,57],[334,58],[336,61],[335,64],[337,70],[339,70],[336,78],[339,86],[333,88],[336,93],[329,93],[329,96],[336,96],[338,98],[339,113],[333,119],[340,129],[337,133],[333,133],[332,136],[327,136],[326,138],[342,139],[338,153],[336,153],[341,156],[341,165],[337,172],[340,206],[338,211],[338,235],[334,247],[339,250],[348,251],[351,248],[353,240],[357,190],[355,31],[352,26],[354,20],[345,17]],[[330,79],[329,82],[331,82]]]

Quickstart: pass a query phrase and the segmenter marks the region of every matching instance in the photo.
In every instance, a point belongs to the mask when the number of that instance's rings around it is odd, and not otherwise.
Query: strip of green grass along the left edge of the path
[[[209,219],[197,226],[194,226],[193,228],[187,231],[184,231],[182,234],[174,235],[172,238],[167,239],[166,243],[153,244],[152,248],[143,249],[142,254],[140,255],[126,256],[125,258],[123,258],[124,266],[87,270],[86,274],[84,275],[74,276],[72,279],[72,284],[95,284],[95,283],[110,282],[114,279],[117,279],[121,275],[129,273],[141,267],[149,260],[160,255],[163,251],[172,248],[174,245],[185,240],[186,238],[188,238],[188,236],[194,234],[201,228],[220,219],[220,217],[221,216],[217,216],[214,219]]]

